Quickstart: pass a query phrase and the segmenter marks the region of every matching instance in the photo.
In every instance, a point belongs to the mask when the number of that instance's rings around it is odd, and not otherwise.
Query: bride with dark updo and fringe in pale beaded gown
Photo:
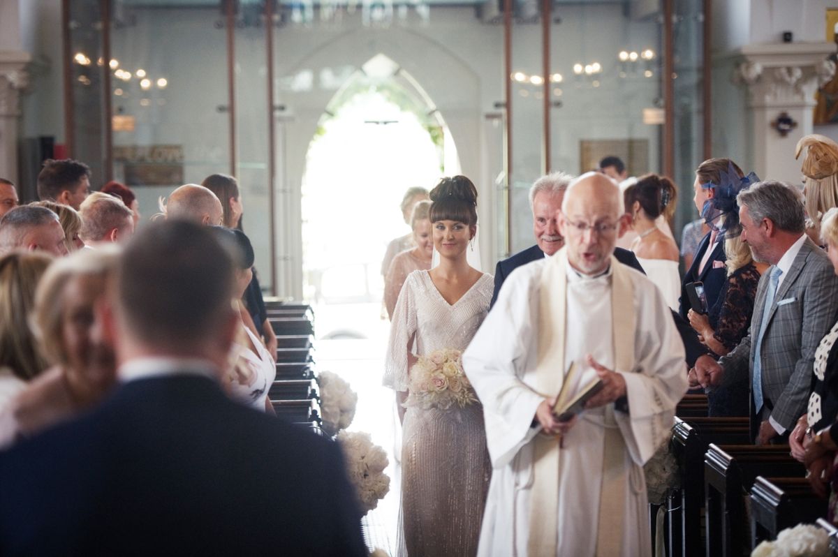
[[[471,556],[477,554],[491,473],[482,407],[473,402],[443,409],[422,402],[432,387],[411,377],[411,366],[417,356],[433,358],[443,348],[462,352],[468,346],[489,310],[494,281],[466,260],[477,230],[473,183],[463,176],[443,178],[431,199],[433,245],[440,263],[431,271],[412,272],[401,289],[384,381],[406,407],[400,547],[410,557]],[[446,383],[438,390],[447,388]]]

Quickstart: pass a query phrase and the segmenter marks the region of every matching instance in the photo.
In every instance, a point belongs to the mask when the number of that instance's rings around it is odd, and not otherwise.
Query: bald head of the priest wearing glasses
[[[585,275],[608,269],[614,245],[629,226],[623,195],[612,178],[585,173],[567,187],[559,230],[565,237],[567,260]]]

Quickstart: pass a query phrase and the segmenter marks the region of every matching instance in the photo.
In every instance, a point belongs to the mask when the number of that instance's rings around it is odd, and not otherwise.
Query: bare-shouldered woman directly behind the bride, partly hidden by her
[[[387,307],[387,317],[393,318],[393,309],[399,298],[401,286],[413,271],[431,268],[433,255],[433,240],[431,238],[430,201],[420,201],[413,208],[411,215],[411,230],[413,230],[414,248],[404,250],[393,258],[390,269],[384,277],[384,305]]]

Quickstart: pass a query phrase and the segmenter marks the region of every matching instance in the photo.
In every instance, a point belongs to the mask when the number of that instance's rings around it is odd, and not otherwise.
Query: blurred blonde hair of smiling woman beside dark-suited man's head
[[[116,270],[120,248],[102,245],[96,250],[79,250],[56,260],[44,273],[35,291],[32,331],[50,364],[68,364],[61,327],[64,317],[64,289],[73,278],[107,279]]]

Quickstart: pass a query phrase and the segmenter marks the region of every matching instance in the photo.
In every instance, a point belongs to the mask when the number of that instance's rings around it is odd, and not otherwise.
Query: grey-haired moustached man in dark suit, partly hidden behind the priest
[[[604,160],[604,159],[603,159]],[[567,185],[573,177],[568,173],[556,172],[542,176],[535,180],[530,188],[530,209],[532,209],[532,229],[537,242],[526,250],[519,251],[509,258],[498,261],[494,267],[494,293],[489,309],[494,306],[498,299],[500,287],[503,286],[507,276],[518,267],[539,260],[542,257],[549,257],[561,250],[565,245],[565,239],[559,234],[559,211],[561,201],[565,197]],[[629,250],[623,248],[614,249],[614,257],[623,265],[644,273],[643,267],[637,257]],[[645,274],[645,273],[644,273]],[[707,348],[701,344],[690,324],[682,319],[677,313],[672,312],[675,327],[678,328],[681,341],[684,343],[686,352],[686,364],[690,367],[696,363],[696,358],[707,353]]]

